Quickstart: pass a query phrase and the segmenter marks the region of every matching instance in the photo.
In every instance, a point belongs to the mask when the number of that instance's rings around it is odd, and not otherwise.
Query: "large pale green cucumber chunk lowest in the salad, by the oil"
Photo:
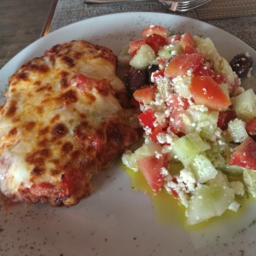
[[[209,218],[222,215],[235,199],[234,189],[218,184],[199,185],[189,201],[187,223],[201,223]]]

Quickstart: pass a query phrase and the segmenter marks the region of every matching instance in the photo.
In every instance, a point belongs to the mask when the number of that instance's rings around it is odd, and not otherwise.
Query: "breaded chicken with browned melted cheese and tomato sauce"
[[[110,49],[57,44],[9,79],[0,112],[0,189],[12,201],[70,207],[139,137]]]

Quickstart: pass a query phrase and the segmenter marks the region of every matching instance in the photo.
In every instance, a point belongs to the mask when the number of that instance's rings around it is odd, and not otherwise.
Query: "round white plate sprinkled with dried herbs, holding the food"
[[[159,24],[173,32],[188,31],[209,36],[221,55],[230,59],[256,52],[214,26],[177,15],[123,13],[83,20],[50,33],[23,49],[0,71],[0,84],[32,57],[54,44],[83,38],[102,44],[118,54],[144,26]],[[255,68],[255,64],[254,64]],[[255,79],[255,73],[253,74]],[[133,191],[119,165],[95,179],[95,192],[71,208],[19,205],[0,208],[1,255],[255,255],[256,204],[236,217],[186,230],[174,219],[160,224],[147,195]]]

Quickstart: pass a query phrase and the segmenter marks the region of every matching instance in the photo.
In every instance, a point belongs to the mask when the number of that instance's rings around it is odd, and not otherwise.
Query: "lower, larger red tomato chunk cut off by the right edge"
[[[256,142],[253,138],[247,137],[235,148],[231,155],[230,166],[240,166],[256,171]]]

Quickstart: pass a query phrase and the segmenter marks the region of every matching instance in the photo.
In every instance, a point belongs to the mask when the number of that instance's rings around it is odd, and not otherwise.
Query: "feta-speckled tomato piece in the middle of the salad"
[[[183,134],[183,113],[189,108],[188,99],[178,96],[177,94],[173,94],[166,104],[171,110],[169,121],[171,131],[177,135]]]

